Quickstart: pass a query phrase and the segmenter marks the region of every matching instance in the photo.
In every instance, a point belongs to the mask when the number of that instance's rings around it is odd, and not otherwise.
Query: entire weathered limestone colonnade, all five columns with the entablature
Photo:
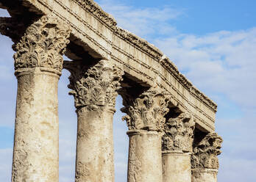
[[[13,182],[58,181],[57,84],[65,49],[74,60],[64,67],[77,108],[76,182],[114,181],[118,92],[129,128],[128,182],[216,182],[216,103],[154,45],[116,26],[93,0],[0,0],[0,8],[12,16],[0,18],[0,33],[16,51]]]

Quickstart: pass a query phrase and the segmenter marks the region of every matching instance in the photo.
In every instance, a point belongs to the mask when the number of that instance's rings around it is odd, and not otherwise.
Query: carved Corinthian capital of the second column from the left
[[[107,60],[101,60],[96,65],[86,62],[64,62],[64,68],[71,72],[69,77],[70,95],[74,95],[77,109],[83,106],[115,107],[123,72]]]

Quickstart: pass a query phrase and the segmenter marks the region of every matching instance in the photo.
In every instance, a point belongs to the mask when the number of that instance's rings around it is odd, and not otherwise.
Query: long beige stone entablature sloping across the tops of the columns
[[[95,2],[24,0],[23,6],[38,14],[52,13],[67,22],[71,26],[72,43],[82,45],[95,58],[114,60],[125,74],[135,77],[141,84],[152,87],[157,82],[174,97],[184,112],[193,113],[201,128],[214,131],[216,103],[185,79],[154,45],[116,26],[115,20]],[[73,56],[69,52],[66,55]]]

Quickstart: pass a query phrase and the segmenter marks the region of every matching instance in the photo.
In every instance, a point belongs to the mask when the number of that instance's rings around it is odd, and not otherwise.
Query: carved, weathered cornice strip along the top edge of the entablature
[[[137,48],[141,49],[143,52],[151,56],[152,58],[156,59],[163,65],[167,70],[172,73],[172,75],[178,79],[179,83],[181,83],[189,92],[199,98],[200,101],[205,103],[207,106],[210,107],[214,112],[217,112],[217,104],[214,103],[210,98],[208,98],[204,93],[199,91],[191,81],[185,78],[182,73],[179,72],[178,68],[171,62],[166,55],[163,54],[157,47],[152,45],[151,43],[147,42],[141,37],[138,37],[131,32],[121,29],[120,27],[116,26],[117,23],[112,15],[104,12],[98,4],[96,4],[93,0],[72,0],[77,2],[81,7],[85,10],[88,10],[90,13],[94,15],[94,17],[98,18],[99,21],[104,22],[110,29],[113,30],[118,37],[121,37],[122,40],[132,43]]]

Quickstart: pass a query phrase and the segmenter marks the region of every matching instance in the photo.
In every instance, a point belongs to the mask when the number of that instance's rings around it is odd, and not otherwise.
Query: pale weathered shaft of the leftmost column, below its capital
[[[58,181],[59,76],[39,68],[18,74],[12,181]]]

